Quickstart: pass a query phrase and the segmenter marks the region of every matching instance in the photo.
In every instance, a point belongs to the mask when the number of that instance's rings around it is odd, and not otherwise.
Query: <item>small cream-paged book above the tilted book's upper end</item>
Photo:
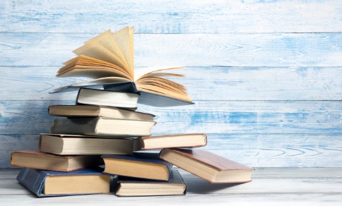
[[[172,147],[204,147],[207,143],[206,134],[204,133],[143,136],[138,140],[140,140],[139,150]]]

